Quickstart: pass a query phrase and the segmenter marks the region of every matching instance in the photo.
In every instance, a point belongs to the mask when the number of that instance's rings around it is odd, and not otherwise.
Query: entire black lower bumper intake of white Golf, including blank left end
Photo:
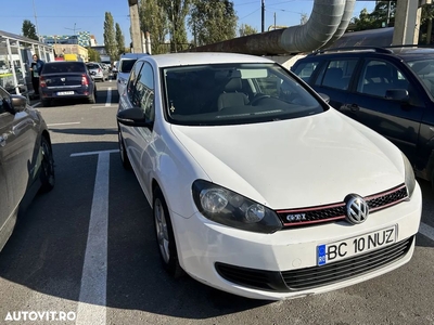
[[[265,271],[217,262],[215,268],[225,280],[266,291],[289,292],[317,288],[381,269],[403,258],[414,236],[394,245],[346,260],[293,271]]]

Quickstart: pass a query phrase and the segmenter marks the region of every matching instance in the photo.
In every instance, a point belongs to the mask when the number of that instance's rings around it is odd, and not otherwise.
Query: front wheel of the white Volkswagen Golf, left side
[[[154,191],[153,216],[155,223],[156,243],[163,266],[168,274],[177,278],[184,274],[178,260],[177,246],[170,214],[167,209],[162,191],[157,187]]]

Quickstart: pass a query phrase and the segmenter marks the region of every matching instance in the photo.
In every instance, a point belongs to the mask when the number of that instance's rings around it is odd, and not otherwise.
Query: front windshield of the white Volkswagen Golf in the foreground
[[[321,104],[279,65],[210,64],[163,69],[170,122],[237,125],[318,114]]]

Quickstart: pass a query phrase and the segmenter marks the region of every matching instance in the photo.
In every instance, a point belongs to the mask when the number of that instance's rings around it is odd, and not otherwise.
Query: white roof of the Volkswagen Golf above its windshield
[[[275,63],[273,61],[261,56],[224,52],[157,54],[146,56],[145,60],[155,62],[158,67],[219,63]]]

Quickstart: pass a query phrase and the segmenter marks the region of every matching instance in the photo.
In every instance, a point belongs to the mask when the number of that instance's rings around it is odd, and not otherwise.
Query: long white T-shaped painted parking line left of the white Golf
[[[112,152],[116,151],[71,155],[72,157],[98,155],[88,240],[77,307],[77,325],[105,325],[106,323],[108,174],[110,154]]]

